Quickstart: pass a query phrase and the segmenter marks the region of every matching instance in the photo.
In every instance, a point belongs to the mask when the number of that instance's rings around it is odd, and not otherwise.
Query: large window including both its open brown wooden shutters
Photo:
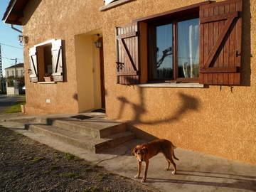
[[[117,83],[240,85],[242,0],[199,4],[117,28]]]

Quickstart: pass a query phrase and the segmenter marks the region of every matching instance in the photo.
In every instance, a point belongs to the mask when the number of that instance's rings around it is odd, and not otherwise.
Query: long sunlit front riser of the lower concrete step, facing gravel
[[[66,144],[71,144],[73,146],[77,146],[77,147],[80,147],[80,148],[85,149],[87,151],[90,151],[92,153],[95,153],[95,146],[90,146],[89,144],[86,144],[86,143],[83,143],[83,142],[78,142],[75,139],[70,138],[70,137],[66,137],[62,134],[56,134],[54,132],[49,132],[46,129],[41,129],[41,128],[35,127],[33,125],[31,125],[28,129],[33,131],[33,132],[36,132],[38,134],[43,134],[47,137],[57,139],[60,142],[64,142]]]

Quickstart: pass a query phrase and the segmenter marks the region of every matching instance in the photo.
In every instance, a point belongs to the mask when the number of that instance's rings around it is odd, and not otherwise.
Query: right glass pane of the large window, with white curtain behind
[[[199,18],[178,22],[178,78],[198,78]]]

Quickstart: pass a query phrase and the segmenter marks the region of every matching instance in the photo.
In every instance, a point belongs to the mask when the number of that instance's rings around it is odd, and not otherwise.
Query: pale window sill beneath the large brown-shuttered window
[[[198,82],[164,82],[164,83],[146,83],[139,84],[138,87],[186,87],[186,88],[203,88],[203,84],[199,84]]]

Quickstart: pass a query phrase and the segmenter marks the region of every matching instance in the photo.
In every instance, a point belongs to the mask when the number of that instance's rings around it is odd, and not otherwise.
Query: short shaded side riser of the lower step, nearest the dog
[[[126,136],[126,137],[120,137],[120,138],[117,138],[117,139],[110,140],[108,142],[104,142],[102,144],[97,144],[95,146],[95,152],[96,152],[96,154],[100,153],[101,151],[103,151],[105,149],[113,148],[115,146],[118,146],[119,144],[123,144],[125,142],[128,142],[131,139],[134,139],[134,138],[135,138],[135,135],[131,134],[131,135]]]

